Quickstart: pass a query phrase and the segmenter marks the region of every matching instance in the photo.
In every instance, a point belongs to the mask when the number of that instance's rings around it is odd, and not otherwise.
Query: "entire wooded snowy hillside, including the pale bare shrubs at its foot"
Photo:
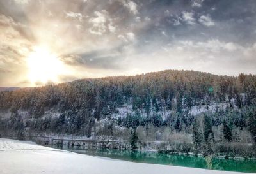
[[[166,70],[2,91],[0,130],[115,140],[133,130],[140,141],[169,142],[160,150],[222,153],[223,143],[255,155],[255,106],[255,75]]]

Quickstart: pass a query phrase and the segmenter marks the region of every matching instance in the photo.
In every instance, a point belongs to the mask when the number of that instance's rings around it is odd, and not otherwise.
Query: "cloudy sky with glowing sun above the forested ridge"
[[[254,0],[0,0],[0,86],[256,73]]]

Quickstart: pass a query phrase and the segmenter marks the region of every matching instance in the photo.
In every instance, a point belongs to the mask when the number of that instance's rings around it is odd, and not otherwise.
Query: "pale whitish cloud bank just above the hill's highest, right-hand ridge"
[[[164,69],[168,69],[168,67],[180,69],[182,66],[182,69],[193,69],[218,75],[238,75],[240,72],[254,71],[256,64],[256,60],[252,58],[256,52],[256,44],[254,47],[253,45],[250,47],[246,59],[243,55],[246,48],[238,43],[218,39],[175,40],[164,46],[161,45],[159,48],[161,49],[154,50],[151,54],[137,55],[138,61],[133,68],[145,66],[147,71],[158,71],[163,67]],[[154,64],[154,57],[157,57],[157,64]]]

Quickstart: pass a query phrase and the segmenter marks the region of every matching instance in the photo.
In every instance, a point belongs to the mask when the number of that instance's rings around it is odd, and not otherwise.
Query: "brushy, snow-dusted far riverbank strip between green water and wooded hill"
[[[10,138],[17,140],[17,136],[2,136],[1,138]],[[56,147],[86,147],[86,148],[102,148],[102,149],[118,149],[131,150],[131,143],[129,140],[113,140],[110,137],[93,138],[86,136],[67,136],[67,135],[53,135],[44,134],[41,136],[23,136],[22,140],[33,141],[39,145],[56,146]],[[234,159],[234,160],[256,160],[256,146],[252,144],[244,144],[236,146],[232,143],[217,143],[221,150],[214,150],[211,154],[217,159]],[[188,143],[171,143],[167,141],[138,141],[138,151],[159,152],[164,154],[184,155],[184,156],[198,156],[205,157],[201,151],[193,149],[193,144]],[[243,148],[243,147],[247,148]]]

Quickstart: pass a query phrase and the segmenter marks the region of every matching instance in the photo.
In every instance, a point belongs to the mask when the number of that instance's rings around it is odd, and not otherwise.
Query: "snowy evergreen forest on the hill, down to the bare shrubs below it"
[[[255,115],[248,112],[254,106],[255,75],[235,77],[166,70],[2,91],[0,128],[113,136],[115,127],[136,129],[150,125],[192,134],[197,115],[204,114],[211,126],[223,126],[226,122],[231,131],[245,127],[248,130],[248,115]],[[97,127],[107,123],[111,131],[107,127],[100,132]],[[251,132],[252,138],[256,136],[256,132]]]

